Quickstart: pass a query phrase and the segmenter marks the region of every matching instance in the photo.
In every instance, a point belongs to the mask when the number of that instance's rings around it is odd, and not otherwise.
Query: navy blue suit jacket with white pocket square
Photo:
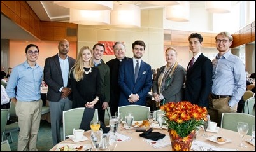
[[[152,87],[151,66],[141,60],[138,78],[135,82],[132,59],[124,60],[120,64],[118,84],[121,88],[119,106],[131,104],[128,101],[131,93],[139,95],[139,100],[133,104],[146,106],[146,95]]]

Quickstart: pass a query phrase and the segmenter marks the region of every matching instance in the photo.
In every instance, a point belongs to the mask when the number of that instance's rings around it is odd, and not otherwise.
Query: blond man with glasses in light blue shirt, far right
[[[213,59],[213,86],[209,99],[211,121],[220,126],[222,113],[236,112],[238,102],[246,89],[245,65],[231,54],[233,38],[228,32],[215,37],[218,54]]]

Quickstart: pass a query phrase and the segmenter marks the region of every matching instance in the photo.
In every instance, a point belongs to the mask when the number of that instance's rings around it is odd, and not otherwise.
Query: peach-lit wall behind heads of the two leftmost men
[[[59,41],[36,42],[39,48],[39,57],[37,63],[39,66],[45,66],[45,59],[59,52]],[[15,67],[26,60],[25,47],[30,43],[11,42],[10,41],[10,67]],[[70,43],[68,55],[76,59],[76,43]]]

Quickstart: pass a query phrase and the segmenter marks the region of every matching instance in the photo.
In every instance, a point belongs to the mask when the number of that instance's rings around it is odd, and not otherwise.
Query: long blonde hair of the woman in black
[[[83,69],[83,51],[87,49],[90,50],[90,53],[92,54],[92,49],[89,46],[83,46],[82,48],[80,48],[76,62],[74,66],[71,67],[71,71],[69,73],[69,78],[70,78],[70,74],[73,71],[73,77],[77,82],[83,79],[83,73],[85,72],[85,70]],[[93,65],[94,64],[91,57],[89,61],[89,66],[92,67]]]

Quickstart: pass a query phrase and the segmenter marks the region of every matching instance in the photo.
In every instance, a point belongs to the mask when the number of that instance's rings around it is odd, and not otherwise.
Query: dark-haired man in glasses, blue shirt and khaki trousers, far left
[[[25,48],[27,60],[13,68],[6,86],[8,97],[16,105],[20,127],[17,151],[38,151],[36,142],[43,105],[41,100],[43,68],[36,63],[38,55],[38,46],[27,45]]]

